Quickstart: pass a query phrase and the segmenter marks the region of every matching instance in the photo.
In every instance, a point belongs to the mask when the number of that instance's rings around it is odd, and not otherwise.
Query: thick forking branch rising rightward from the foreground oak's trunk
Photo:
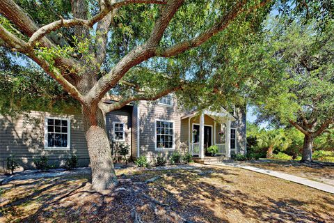
[[[264,0],[260,4],[253,6],[252,8],[246,10],[246,13],[255,10],[256,8],[263,7],[267,5],[271,0]],[[173,47],[169,47],[161,51],[157,44],[161,40],[162,35],[166,27],[168,26],[173,15],[165,15],[164,13],[176,13],[177,9],[180,8],[183,1],[168,1],[164,10],[161,13],[161,18],[165,20],[158,19],[156,24],[154,24],[154,29],[152,30],[151,36],[146,43],[141,46],[136,47],[131,52],[129,52],[126,56],[124,56],[116,66],[104,77],[100,78],[100,80],[93,86],[90,92],[87,95],[88,101],[95,101],[96,103],[103,98],[104,94],[109,91],[113,86],[115,86],[118,81],[125,75],[125,73],[132,67],[138,65],[139,63],[150,59],[152,56],[175,56],[176,54],[180,54],[191,47],[197,47],[200,44],[204,43],[206,40],[209,40],[212,36],[214,36],[219,31],[225,29],[232,20],[234,20],[238,15],[244,13],[243,9],[246,1],[241,1],[234,6],[234,8],[225,15],[219,22],[217,22],[211,29],[205,31],[200,34],[197,38],[193,40],[185,41],[174,45]],[[157,38],[152,37],[152,34],[156,34]]]

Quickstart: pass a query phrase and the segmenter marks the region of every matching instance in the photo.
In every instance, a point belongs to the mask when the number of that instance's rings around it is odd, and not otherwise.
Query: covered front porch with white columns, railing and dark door
[[[182,125],[187,125],[185,129],[188,133],[189,153],[193,157],[204,159],[207,156],[212,156],[207,148],[216,145],[218,147],[216,156],[230,158],[232,121],[236,121],[236,119],[225,110],[222,112],[204,111],[201,114],[193,112],[183,116]]]

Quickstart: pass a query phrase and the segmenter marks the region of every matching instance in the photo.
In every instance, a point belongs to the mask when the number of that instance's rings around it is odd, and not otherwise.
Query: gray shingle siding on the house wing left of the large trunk
[[[45,116],[70,118],[70,151],[46,151],[44,148]],[[81,115],[47,114],[30,112],[29,116],[12,119],[0,116],[0,165],[6,166],[6,159],[15,155],[24,169],[34,167],[33,159],[42,154],[49,155],[49,163],[59,166],[67,157],[76,154],[79,166],[88,166],[89,157]]]

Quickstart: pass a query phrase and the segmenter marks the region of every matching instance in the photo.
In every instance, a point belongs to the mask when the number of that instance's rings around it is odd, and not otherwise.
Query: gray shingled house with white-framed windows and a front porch
[[[112,103],[112,100],[104,100]],[[204,159],[206,148],[218,146],[218,154],[246,153],[246,112],[234,109],[221,112],[185,112],[172,95],[157,102],[141,101],[106,114],[106,129],[113,154],[117,144],[131,147],[129,157],[141,155],[154,162],[158,155],[168,157],[174,151],[189,151]],[[24,169],[33,168],[33,159],[42,154],[49,162],[62,165],[71,154],[79,158],[79,166],[89,164],[88,150],[80,114],[30,112],[28,116],[0,116],[0,164],[15,159]]]

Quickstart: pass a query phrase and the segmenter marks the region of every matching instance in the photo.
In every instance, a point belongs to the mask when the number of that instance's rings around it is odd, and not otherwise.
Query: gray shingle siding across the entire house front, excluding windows
[[[148,160],[154,162],[157,155],[170,156],[173,151],[155,150],[155,121],[166,120],[174,123],[175,150],[184,153],[188,148],[189,122],[182,120],[183,112],[175,102],[172,107],[158,105],[154,102],[138,102],[138,105],[123,107],[117,111],[106,114],[106,129],[109,139],[112,139],[113,122],[125,124],[125,143],[131,145],[129,157],[137,157],[139,141],[140,155],[145,155]],[[44,122],[45,116],[70,118],[70,151],[46,151],[44,148]],[[237,128],[237,152],[246,152],[246,107],[237,108],[237,121],[231,123],[231,128]],[[137,125],[139,119],[139,126]],[[191,124],[197,118],[192,118]],[[205,122],[212,121],[205,116]],[[212,121],[213,122],[213,121]],[[197,121],[196,123],[199,123]],[[211,124],[213,125],[213,124]],[[216,138],[219,125],[216,125]],[[139,131],[138,131],[139,130]],[[139,133],[139,140],[138,140]],[[218,142],[218,141],[217,141]],[[111,140],[112,144],[112,140]],[[28,116],[18,116],[12,119],[0,116],[0,165],[6,166],[9,155],[16,155],[19,164],[24,169],[34,167],[33,159],[42,154],[49,155],[50,164],[57,166],[63,164],[67,157],[76,154],[79,158],[79,166],[86,167],[89,164],[89,156],[86,138],[83,130],[81,114],[48,114],[45,112],[30,112]],[[119,157],[116,156],[116,160]]]

